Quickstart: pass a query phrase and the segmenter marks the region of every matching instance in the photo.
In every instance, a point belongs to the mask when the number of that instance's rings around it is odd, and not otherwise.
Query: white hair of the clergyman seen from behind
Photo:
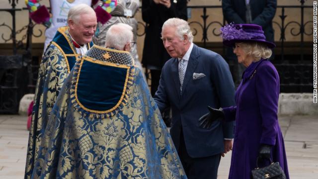
[[[105,47],[124,49],[128,42],[133,40],[133,27],[124,23],[112,25],[106,33]]]

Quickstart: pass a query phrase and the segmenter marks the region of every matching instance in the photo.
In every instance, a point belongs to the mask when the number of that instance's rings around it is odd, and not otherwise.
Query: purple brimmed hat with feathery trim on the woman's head
[[[233,47],[237,42],[259,42],[274,48],[273,42],[266,41],[262,27],[256,24],[233,24],[221,27],[223,44]]]

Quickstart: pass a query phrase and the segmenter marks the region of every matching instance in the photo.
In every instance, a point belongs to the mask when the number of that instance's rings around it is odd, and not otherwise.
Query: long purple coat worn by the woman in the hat
[[[236,120],[229,179],[251,178],[260,144],[273,146],[272,160],[279,162],[289,179],[278,97],[279,76],[273,64],[262,59],[248,66],[235,93],[237,105],[224,108],[226,120]]]

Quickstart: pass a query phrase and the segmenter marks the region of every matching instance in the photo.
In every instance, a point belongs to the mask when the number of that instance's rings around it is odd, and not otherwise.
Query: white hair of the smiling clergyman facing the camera
[[[81,3],[70,8],[68,13],[68,20],[73,20],[75,23],[79,22],[81,14],[95,14],[94,9],[89,5]]]

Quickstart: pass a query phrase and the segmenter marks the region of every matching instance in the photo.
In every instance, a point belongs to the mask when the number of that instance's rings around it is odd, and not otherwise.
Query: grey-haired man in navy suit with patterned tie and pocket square
[[[171,107],[170,135],[188,179],[216,179],[221,155],[232,149],[234,125],[216,121],[203,129],[198,119],[207,106],[234,105],[234,84],[221,55],[192,40],[187,21],[163,23],[163,45],[172,58],[162,68],[154,99],[161,112]]]

